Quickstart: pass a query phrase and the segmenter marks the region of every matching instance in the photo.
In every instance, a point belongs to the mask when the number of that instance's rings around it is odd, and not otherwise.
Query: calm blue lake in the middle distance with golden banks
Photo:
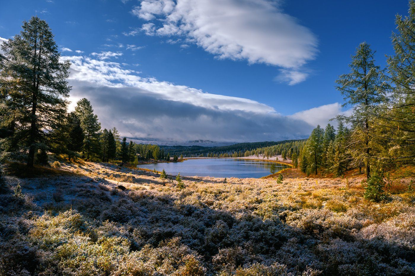
[[[154,163],[138,165],[138,168],[162,171],[167,174],[186,176],[212,176],[223,178],[261,178],[270,175],[270,161],[236,158],[188,159],[183,162]],[[276,171],[289,168],[288,165],[274,163]]]

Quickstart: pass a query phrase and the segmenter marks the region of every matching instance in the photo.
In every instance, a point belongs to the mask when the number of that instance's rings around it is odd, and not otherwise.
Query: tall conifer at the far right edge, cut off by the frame
[[[388,58],[388,72],[395,86],[390,105],[378,122],[376,133],[386,147],[381,161],[415,163],[415,1],[409,2],[407,17],[396,16],[397,32],[392,34],[395,55]]]

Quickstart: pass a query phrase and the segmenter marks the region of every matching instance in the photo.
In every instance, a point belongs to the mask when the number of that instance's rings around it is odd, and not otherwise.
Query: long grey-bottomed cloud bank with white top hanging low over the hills
[[[71,107],[78,99],[88,98],[103,127],[116,126],[128,137],[232,142],[297,139],[307,137],[317,123],[323,125],[340,111],[340,105],[333,104],[284,116],[247,98],[144,78],[110,58],[98,54],[62,57],[72,62]]]

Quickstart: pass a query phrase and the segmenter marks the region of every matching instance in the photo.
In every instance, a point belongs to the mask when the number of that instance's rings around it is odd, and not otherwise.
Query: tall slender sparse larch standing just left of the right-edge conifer
[[[386,92],[390,89],[386,77],[379,66],[375,65],[374,51],[366,42],[356,48],[349,64],[350,73],[340,75],[336,80],[338,91],[344,96],[344,105],[351,106],[351,115],[338,115],[337,120],[353,125],[354,140],[360,146],[355,147],[353,157],[364,156],[366,177],[370,176],[370,165],[374,159],[374,135],[372,135],[374,118],[378,117],[381,103],[386,101]]]

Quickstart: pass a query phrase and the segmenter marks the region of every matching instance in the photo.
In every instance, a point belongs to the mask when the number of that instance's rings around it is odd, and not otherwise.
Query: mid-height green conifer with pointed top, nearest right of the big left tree
[[[85,135],[82,156],[89,160],[91,155],[98,153],[98,132],[101,129],[101,124],[98,122],[98,116],[94,114],[90,101],[86,98],[76,102],[75,113],[81,120],[81,127]]]

